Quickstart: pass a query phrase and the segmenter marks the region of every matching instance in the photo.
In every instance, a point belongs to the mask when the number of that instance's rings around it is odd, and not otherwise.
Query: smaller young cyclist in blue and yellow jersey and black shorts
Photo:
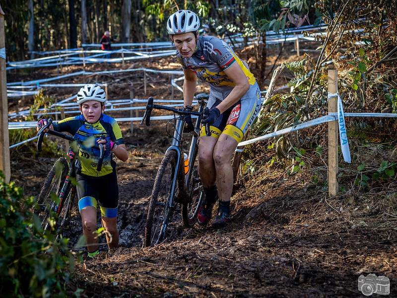
[[[102,226],[105,228],[109,249],[119,246],[117,229],[117,209],[119,204],[119,185],[116,175],[116,162],[113,154],[126,161],[128,152],[123,142],[121,130],[116,120],[103,114],[106,94],[98,85],[85,85],[77,93],[77,103],[81,114],[59,122],[53,122],[51,130],[68,132],[84,141],[78,150],[76,163],[78,208],[81,215],[83,234],[86,237],[88,256],[99,253],[98,236],[95,234],[97,204],[99,202]],[[37,123],[37,130],[47,124],[46,119]],[[104,140],[100,140],[100,138]],[[105,157],[101,171],[97,171],[99,159],[98,146],[103,144]],[[112,154],[113,153],[113,154]],[[70,153],[69,153],[70,154]]]

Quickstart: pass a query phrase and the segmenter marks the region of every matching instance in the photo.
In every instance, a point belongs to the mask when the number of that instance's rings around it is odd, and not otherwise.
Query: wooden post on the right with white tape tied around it
[[[336,94],[338,92],[338,73],[337,70],[328,70],[328,92]],[[328,100],[328,112],[337,112],[337,97]],[[336,196],[338,192],[338,121],[328,122],[328,194],[330,197]]]

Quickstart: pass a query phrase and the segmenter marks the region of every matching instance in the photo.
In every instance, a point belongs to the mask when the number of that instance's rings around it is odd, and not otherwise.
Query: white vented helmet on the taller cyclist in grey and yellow
[[[167,32],[170,35],[196,32],[200,27],[200,19],[190,10],[179,10],[170,15],[167,21]]]

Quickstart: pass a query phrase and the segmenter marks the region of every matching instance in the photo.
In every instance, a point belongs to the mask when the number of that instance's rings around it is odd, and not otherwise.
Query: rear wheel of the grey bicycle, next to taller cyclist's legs
[[[198,171],[197,148],[192,164],[190,164],[190,179],[187,185],[188,199],[182,205],[182,222],[185,227],[193,227],[197,221],[200,204],[204,197]]]

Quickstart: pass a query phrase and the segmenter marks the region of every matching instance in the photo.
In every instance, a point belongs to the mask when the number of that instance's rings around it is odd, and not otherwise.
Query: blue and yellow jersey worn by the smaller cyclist
[[[110,151],[105,153],[101,171],[98,172],[96,169],[100,156],[97,141],[100,137],[110,139],[117,145],[124,144],[120,127],[115,119],[102,114],[97,122],[91,124],[84,119],[83,115],[78,115],[53,122],[53,125],[55,131],[68,132],[78,140],[83,141],[79,146],[78,158],[76,158],[77,172],[99,177],[110,174],[115,170],[116,162],[112,159]]]

